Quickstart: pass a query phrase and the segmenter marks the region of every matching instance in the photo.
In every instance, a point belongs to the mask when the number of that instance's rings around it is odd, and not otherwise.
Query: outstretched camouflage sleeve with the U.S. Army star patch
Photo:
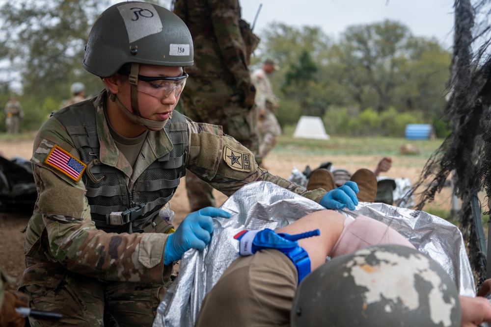
[[[191,121],[188,125],[191,133],[187,168],[227,196],[254,181],[272,182],[318,203],[327,193],[322,189],[307,191],[259,168],[254,154],[231,136],[223,134],[220,126]]]

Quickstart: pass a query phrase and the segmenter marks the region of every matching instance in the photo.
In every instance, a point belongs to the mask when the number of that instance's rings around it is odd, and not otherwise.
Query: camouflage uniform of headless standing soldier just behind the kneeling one
[[[188,26],[194,46],[194,65],[186,68],[190,77],[181,95],[184,114],[194,122],[223,126],[260,162],[251,49],[241,33],[239,1],[175,0],[174,13]],[[187,174],[186,187],[191,211],[215,206],[212,188],[197,177]]]

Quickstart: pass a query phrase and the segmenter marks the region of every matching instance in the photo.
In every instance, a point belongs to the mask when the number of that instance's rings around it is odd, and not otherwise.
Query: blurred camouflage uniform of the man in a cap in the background
[[[268,75],[262,68],[251,74],[256,87],[257,131],[259,136],[259,155],[264,157],[273,150],[281,127],[274,116],[278,109],[278,99],[273,93]]]

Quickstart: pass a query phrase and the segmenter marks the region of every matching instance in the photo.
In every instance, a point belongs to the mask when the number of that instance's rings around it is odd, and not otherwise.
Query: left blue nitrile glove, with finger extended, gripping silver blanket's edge
[[[191,212],[165,243],[164,265],[179,260],[189,249],[203,251],[213,233],[212,217],[230,218],[232,214],[214,207]]]

